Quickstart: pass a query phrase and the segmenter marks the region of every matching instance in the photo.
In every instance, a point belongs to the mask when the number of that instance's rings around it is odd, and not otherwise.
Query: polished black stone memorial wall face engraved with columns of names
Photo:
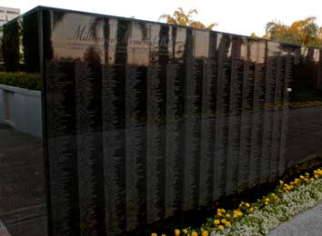
[[[137,231],[322,153],[322,105],[300,105],[322,50],[38,9],[50,235]]]

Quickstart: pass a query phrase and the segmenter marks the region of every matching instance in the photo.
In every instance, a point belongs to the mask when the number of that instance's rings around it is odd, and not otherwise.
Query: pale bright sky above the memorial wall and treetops
[[[196,20],[205,25],[217,23],[216,31],[242,35],[254,32],[262,36],[267,22],[275,19],[290,25],[313,15],[322,25],[321,0],[0,0],[0,6],[20,8],[22,13],[36,5],[156,22],[160,15],[172,15],[178,7],[186,12],[196,9]]]

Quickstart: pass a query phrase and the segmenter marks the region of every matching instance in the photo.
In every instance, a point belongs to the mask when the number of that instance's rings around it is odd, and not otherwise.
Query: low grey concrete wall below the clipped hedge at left
[[[41,93],[0,84],[0,121],[42,137]]]

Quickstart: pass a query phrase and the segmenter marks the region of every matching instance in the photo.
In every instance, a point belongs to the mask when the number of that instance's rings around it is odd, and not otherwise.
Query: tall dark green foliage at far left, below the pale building
[[[19,69],[20,27],[18,20],[3,26],[2,54],[5,61],[5,71],[16,72]]]

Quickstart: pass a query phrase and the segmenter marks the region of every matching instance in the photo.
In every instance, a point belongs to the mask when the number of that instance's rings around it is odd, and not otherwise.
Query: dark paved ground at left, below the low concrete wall
[[[0,236],[45,235],[41,139],[0,123]]]

